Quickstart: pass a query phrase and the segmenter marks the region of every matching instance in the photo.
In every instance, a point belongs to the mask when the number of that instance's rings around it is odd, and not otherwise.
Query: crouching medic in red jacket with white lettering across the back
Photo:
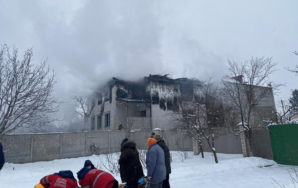
[[[43,188],[78,188],[78,182],[70,170],[61,170],[58,173],[44,176],[40,184]]]

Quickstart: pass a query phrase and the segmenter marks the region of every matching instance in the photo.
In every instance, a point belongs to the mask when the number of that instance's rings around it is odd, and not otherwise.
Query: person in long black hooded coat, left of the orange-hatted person
[[[138,180],[144,177],[144,173],[136,143],[125,138],[120,150],[119,166],[122,183],[126,182],[127,188],[138,188]]]

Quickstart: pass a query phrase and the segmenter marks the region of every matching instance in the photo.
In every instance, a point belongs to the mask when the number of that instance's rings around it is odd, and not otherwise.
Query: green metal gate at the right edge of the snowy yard
[[[298,166],[298,124],[268,127],[274,161],[282,165]]]

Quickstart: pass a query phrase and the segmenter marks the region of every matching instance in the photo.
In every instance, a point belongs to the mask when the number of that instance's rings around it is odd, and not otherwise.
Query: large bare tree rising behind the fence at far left
[[[46,60],[32,63],[33,49],[18,60],[18,48],[0,47],[0,136],[18,127],[34,128],[58,120],[50,113],[59,111],[60,102],[51,94],[57,83]]]

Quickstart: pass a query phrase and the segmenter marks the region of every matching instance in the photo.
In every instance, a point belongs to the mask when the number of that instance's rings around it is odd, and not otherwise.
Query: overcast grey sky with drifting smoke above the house
[[[0,0],[0,43],[34,46],[57,72],[55,94],[89,93],[111,77],[222,76],[227,58],[273,56],[276,99],[298,88],[297,0]]]

